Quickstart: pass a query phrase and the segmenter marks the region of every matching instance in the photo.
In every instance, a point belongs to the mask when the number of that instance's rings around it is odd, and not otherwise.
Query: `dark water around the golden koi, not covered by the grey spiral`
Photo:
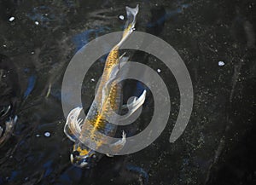
[[[138,153],[79,169],[70,164],[72,142],[63,133],[63,74],[85,43],[121,31],[119,15],[137,3],[137,30],[164,39],[185,62],[193,113],[183,135],[170,143],[179,108],[175,78],[160,61],[133,52],[133,61],[161,69],[172,101],[166,129]],[[0,184],[255,184],[255,30],[253,1],[2,0],[0,106],[11,105],[9,116],[18,121],[0,148]],[[84,79],[87,107],[96,87],[91,78],[102,66],[97,61]],[[141,129],[151,118],[152,100],[146,104]],[[2,127],[9,116],[0,119]]]

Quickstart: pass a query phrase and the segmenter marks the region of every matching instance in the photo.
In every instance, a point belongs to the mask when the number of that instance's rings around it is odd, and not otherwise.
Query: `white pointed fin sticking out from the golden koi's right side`
[[[122,109],[128,109],[128,113],[126,113],[122,119],[127,119],[131,116],[131,114],[135,113],[140,107],[142,107],[145,99],[146,99],[146,90],[143,91],[143,94],[140,95],[139,98],[134,98],[130,103],[123,105]]]

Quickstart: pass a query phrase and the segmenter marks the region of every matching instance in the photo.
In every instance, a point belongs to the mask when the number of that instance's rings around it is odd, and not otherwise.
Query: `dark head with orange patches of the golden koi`
[[[78,142],[73,145],[73,152],[70,154],[70,160],[75,166],[90,169],[96,165],[98,156],[94,150],[91,150],[89,147],[85,147]]]

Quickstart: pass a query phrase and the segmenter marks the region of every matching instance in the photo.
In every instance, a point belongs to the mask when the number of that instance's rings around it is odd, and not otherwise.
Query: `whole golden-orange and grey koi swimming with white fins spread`
[[[125,108],[128,113],[125,117],[130,117],[139,107],[142,107],[146,97],[146,90],[140,97],[135,98],[130,103],[122,105],[122,84],[118,82],[118,73],[120,69],[129,62],[129,57],[119,56],[119,48],[135,29],[138,5],[132,9],[125,7],[127,20],[123,36],[119,43],[110,50],[102,73],[102,78],[97,86],[96,95],[85,119],[80,119],[79,114],[82,107],[75,107],[67,115],[67,121],[64,126],[64,133],[74,142],[73,152],[70,154],[70,160],[73,165],[90,168],[96,164],[96,161],[102,158],[103,154],[95,150],[108,147],[112,153],[118,153],[125,146],[126,133],[122,131],[121,138],[117,142],[110,143],[105,136],[113,137],[116,134],[117,125],[113,124],[115,113],[121,113]],[[119,74],[120,75],[120,74]],[[100,135],[98,133],[101,133]],[[88,147],[94,146],[95,150]],[[108,153],[108,157],[113,157]]]

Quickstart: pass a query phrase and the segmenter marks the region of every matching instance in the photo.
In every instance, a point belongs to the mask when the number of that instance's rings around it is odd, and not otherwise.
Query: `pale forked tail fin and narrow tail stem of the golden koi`
[[[122,43],[125,42],[125,39],[129,37],[129,35],[131,35],[131,32],[133,32],[134,30],[134,26],[136,24],[136,16],[138,13],[138,4],[136,6],[136,8],[131,9],[130,7],[125,7],[126,9],[126,14],[127,14],[127,20],[125,23],[125,30],[123,32],[123,38],[121,39],[121,41],[117,44],[117,47],[119,47]]]

